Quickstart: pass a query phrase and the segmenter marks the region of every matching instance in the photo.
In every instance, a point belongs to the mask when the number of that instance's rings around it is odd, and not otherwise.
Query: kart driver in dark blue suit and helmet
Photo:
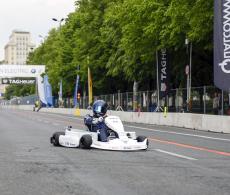
[[[99,141],[108,141],[108,127],[104,122],[104,118],[107,116],[108,104],[104,100],[97,100],[93,104],[93,116],[87,114],[84,118],[85,125],[92,132],[99,131]]]

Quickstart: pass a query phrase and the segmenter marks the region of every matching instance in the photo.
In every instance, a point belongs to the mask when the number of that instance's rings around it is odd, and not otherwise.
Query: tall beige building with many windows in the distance
[[[35,44],[32,43],[29,32],[14,30],[5,46],[5,64],[25,65],[34,48]]]

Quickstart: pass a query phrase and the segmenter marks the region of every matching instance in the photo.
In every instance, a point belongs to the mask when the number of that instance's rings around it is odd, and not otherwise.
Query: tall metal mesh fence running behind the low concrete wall
[[[167,106],[169,112],[190,112],[200,114],[214,114],[213,100],[215,94],[219,94],[218,113],[230,115],[230,98],[229,93],[219,91],[213,86],[193,87],[191,90],[191,100],[187,102],[187,89],[179,88],[172,89],[169,95],[160,100],[159,106],[163,111],[163,107]],[[134,95],[136,97],[134,97]],[[139,91],[136,94],[133,92],[116,93],[108,95],[94,96],[93,101],[97,99],[105,100],[109,109],[120,111],[134,112],[155,112],[157,108],[157,92],[156,91]],[[38,100],[35,95],[27,97],[16,97],[10,101],[1,100],[1,104],[11,105],[30,105]],[[134,101],[135,100],[135,101]],[[54,97],[54,107],[60,107],[58,98]],[[79,100],[79,108],[87,109],[88,97],[81,97]],[[73,108],[73,98],[63,98],[61,105],[64,108]]]

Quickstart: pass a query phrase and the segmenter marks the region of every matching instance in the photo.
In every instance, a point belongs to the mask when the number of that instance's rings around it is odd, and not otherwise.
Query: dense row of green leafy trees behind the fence
[[[138,81],[153,89],[155,52],[171,54],[173,87],[186,83],[185,38],[193,43],[193,86],[212,83],[213,1],[209,0],[78,0],[60,29],[52,29],[28,63],[45,64],[57,95],[72,96],[77,74],[87,90],[91,68],[94,93],[132,89]],[[80,66],[80,70],[77,67]],[[203,76],[205,75],[205,76]]]

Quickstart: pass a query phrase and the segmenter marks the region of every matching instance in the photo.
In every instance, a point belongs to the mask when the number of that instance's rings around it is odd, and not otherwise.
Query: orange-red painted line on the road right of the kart
[[[155,139],[155,138],[151,138],[151,137],[148,138],[148,139],[152,140],[152,141],[155,141],[155,142],[175,145],[175,146],[179,146],[179,147],[183,147],[183,148],[189,148],[189,149],[193,149],[193,150],[199,150],[199,151],[214,153],[214,154],[218,154],[218,155],[222,155],[222,156],[230,156],[230,153],[228,153],[228,152],[222,152],[222,151],[212,150],[212,149],[208,149],[208,148],[201,148],[201,147],[197,147],[197,146],[181,144],[181,143],[171,142],[171,141],[166,141],[166,140],[161,140],[161,139]]]

